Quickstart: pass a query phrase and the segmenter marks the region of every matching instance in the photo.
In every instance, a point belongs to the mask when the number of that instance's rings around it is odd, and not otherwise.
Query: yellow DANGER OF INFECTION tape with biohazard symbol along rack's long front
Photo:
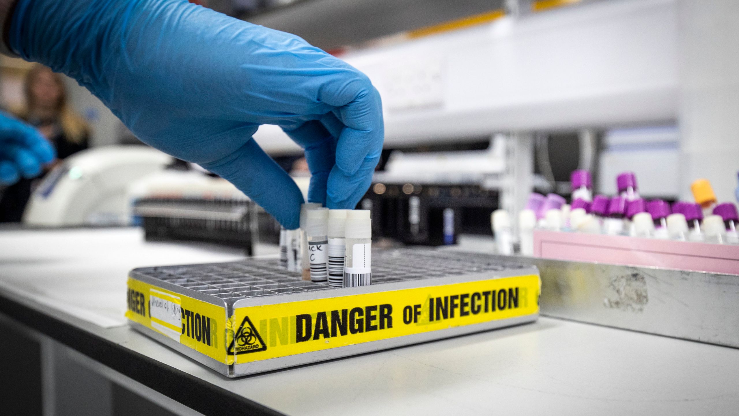
[[[238,308],[236,363],[314,352],[539,312],[539,276]]]

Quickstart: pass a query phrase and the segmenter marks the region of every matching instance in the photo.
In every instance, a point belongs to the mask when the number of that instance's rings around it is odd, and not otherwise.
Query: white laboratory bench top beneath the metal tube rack
[[[134,228],[2,231],[0,315],[205,415],[721,415],[739,409],[737,349],[546,317],[236,379],[126,326],[129,269],[237,258],[234,249],[208,244],[146,243]]]

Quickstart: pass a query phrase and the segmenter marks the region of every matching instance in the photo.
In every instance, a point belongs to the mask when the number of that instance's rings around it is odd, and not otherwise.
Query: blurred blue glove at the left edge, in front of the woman
[[[55,156],[38,130],[0,111],[0,185],[14,184],[21,176],[35,177]]]

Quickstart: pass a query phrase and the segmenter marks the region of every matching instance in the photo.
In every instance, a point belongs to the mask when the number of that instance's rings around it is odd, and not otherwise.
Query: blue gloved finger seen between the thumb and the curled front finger
[[[335,161],[336,138],[317,120],[306,121],[297,129],[285,132],[305,149],[305,160],[310,169],[308,202],[326,204],[326,187]]]

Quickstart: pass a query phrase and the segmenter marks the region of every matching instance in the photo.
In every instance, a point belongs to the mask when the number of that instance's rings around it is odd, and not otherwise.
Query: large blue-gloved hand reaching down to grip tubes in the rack
[[[10,47],[87,87],[138,138],[228,179],[289,229],[302,196],[251,138],[304,147],[308,200],[353,208],[384,137],[369,79],[301,38],[183,0],[18,0]]]

